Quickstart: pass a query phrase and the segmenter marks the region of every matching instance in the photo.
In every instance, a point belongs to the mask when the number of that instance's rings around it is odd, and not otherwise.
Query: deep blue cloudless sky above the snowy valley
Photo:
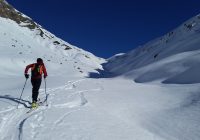
[[[63,40],[108,58],[200,13],[199,0],[7,0]]]

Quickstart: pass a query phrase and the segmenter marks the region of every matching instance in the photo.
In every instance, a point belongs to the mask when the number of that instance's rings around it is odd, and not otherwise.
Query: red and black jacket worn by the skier
[[[34,67],[35,67],[35,64],[37,64],[37,63],[33,63],[33,64],[30,64],[30,65],[28,65],[28,66],[26,66],[26,69],[25,69],[25,71],[24,71],[24,74],[28,74],[28,70],[31,68],[31,70],[33,70],[34,69]],[[45,67],[45,65],[44,65],[44,63],[41,63],[40,64],[40,75],[38,75],[38,76],[36,76],[36,77],[31,77],[32,79],[40,79],[40,78],[42,78],[42,74],[44,73],[44,77],[46,78],[47,77],[47,71],[46,71],[46,67]]]

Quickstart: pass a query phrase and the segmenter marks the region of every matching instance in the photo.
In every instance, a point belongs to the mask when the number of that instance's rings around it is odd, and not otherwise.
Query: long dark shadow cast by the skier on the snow
[[[31,104],[30,101],[27,101],[27,100],[24,100],[24,99],[19,99],[19,98],[15,98],[15,97],[12,97],[10,95],[4,95],[4,96],[1,96],[0,95],[0,99],[5,99],[5,100],[9,100],[9,101],[12,101],[12,102],[15,102],[15,103],[19,103],[19,104],[22,104],[24,107],[26,108],[30,108],[30,106],[28,106],[26,103],[28,104]]]

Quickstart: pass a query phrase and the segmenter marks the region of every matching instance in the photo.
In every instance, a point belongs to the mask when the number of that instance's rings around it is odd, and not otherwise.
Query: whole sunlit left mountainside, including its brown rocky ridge
[[[4,0],[0,1],[0,42],[1,76],[21,75],[39,57],[52,71],[61,74],[67,67],[66,74],[82,76],[101,69],[104,61],[59,39]]]

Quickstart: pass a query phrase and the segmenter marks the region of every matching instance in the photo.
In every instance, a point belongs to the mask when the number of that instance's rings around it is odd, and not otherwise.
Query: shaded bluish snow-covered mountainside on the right
[[[136,82],[200,82],[200,15],[126,54],[109,59],[105,68]]]

